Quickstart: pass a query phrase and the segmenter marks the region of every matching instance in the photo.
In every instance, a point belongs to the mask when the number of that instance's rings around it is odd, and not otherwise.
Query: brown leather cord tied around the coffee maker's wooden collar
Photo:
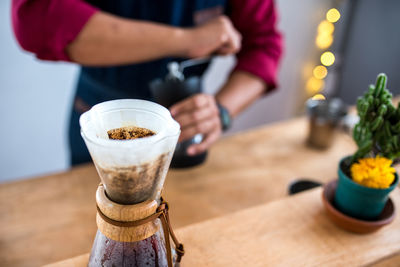
[[[139,226],[142,224],[146,224],[148,222],[152,222],[155,219],[160,218],[161,224],[163,227],[163,231],[164,231],[165,246],[167,249],[168,267],[173,267],[171,243],[169,240],[170,236],[171,236],[172,240],[174,241],[176,254],[178,255],[177,262],[180,262],[182,259],[182,256],[185,254],[183,244],[179,243],[178,239],[176,238],[176,236],[174,234],[174,231],[172,230],[171,223],[169,220],[169,215],[168,215],[168,203],[166,201],[164,201],[162,198],[161,198],[161,204],[157,208],[156,213],[154,213],[146,218],[137,220],[137,221],[129,221],[129,222],[115,221],[113,219],[108,218],[106,215],[104,215],[103,212],[100,210],[99,206],[97,206],[97,212],[104,221],[106,221],[107,223],[109,223],[111,225],[119,226],[119,227],[135,227],[135,226]]]

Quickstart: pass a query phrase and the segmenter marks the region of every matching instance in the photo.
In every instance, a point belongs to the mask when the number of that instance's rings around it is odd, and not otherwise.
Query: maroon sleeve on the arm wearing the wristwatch
[[[234,70],[260,77],[268,90],[277,87],[277,69],[282,54],[282,37],[276,29],[273,0],[230,0],[230,18],[242,34],[242,49]]]

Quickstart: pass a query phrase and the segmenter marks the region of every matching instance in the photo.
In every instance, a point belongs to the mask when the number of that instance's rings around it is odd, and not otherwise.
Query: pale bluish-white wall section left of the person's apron
[[[67,168],[66,120],[77,67],[41,62],[16,45],[0,1],[0,181]]]

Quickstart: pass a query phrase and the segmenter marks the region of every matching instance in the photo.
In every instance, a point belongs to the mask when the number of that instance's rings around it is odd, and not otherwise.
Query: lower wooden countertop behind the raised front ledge
[[[338,133],[325,151],[304,145],[305,118],[227,137],[201,167],[171,170],[165,197],[175,229],[285,196],[299,177],[328,181],[340,158],[352,153]],[[37,266],[90,251],[95,224],[93,165],[0,185],[0,266]]]

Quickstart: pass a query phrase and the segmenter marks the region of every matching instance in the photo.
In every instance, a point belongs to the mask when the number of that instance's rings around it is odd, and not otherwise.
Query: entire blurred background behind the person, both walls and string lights
[[[400,94],[400,1],[278,0],[285,39],[279,89],[240,115],[227,133],[304,114],[316,94],[354,104],[376,75]],[[67,121],[78,66],[43,62],[17,45],[11,0],[0,2],[0,182],[67,170]],[[214,93],[234,64],[218,58],[205,77]]]

